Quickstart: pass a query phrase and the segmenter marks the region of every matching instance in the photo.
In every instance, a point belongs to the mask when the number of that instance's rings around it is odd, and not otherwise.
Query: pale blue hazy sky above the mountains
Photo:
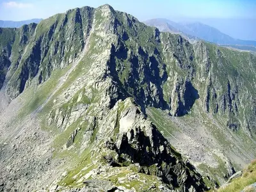
[[[102,4],[110,4],[115,10],[130,13],[141,21],[154,18],[203,20],[205,24],[212,22],[218,26],[218,20],[232,19],[232,26],[237,25],[237,29],[244,20],[256,21],[256,0],[0,0],[0,20],[46,19],[72,8]],[[240,20],[239,24],[236,20]],[[228,23],[219,24],[218,29],[231,31],[228,28],[232,26]],[[251,24],[241,26],[250,27]],[[254,26],[256,28],[256,23]]]

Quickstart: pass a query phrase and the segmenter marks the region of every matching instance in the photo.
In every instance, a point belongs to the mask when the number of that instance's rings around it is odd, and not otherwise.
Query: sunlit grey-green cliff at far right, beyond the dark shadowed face
[[[249,85],[245,77],[255,72],[251,60],[253,56],[249,56],[246,52],[235,53],[230,49],[202,42],[196,43],[194,47],[197,62],[203,63],[198,65],[196,76],[205,84],[205,88],[200,89],[200,95],[204,97],[205,111],[214,115],[224,115],[228,128],[237,131],[242,127],[250,136],[252,134],[250,127],[253,127],[253,123],[244,124],[247,118],[243,114],[248,111],[246,108],[253,106],[253,99],[248,95],[254,94],[252,89],[255,84]],[[246,57],[248,60],[245,59]],[[243,65],[243,70],[238,67],[242,63],[246,63]],[[250,105],[245,107],[249,103]],[[252,111],[249,111],[248,116],[255,118]]]

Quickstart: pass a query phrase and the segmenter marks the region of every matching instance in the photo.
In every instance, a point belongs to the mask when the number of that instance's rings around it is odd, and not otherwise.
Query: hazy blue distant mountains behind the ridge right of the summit
[[[179,33],[180,35],[187,36],[189,40],[197,40],[200,38],[219,45],[232,45],[232,47],[234,47],[234,45],[243,45],[236,47],[245,50],[252,49],[252,46],[256,46],[256,41],[232,38],[231,36],[221,33],[218,29],[200,22],[178,23],[168,19],[152,19],[145,21],[145,24],[148,26],[155,26],[156,28],[159,28],[160,31]]]

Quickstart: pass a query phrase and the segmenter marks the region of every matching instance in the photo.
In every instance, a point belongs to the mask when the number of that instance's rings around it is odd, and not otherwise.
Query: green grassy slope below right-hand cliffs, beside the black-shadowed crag
[[[176,117],[176,121],[173,121],[172,118],[168,117],[168,115],[164,111],[161,111],[161,109],[148,108],[147,112],[148,118],[152,120],[157,126],[157,129],[168,138],[174,147],[179,147],[176,146],[179,145],[177,136],[188,135],[193,140],[203,136],[204,139],[199,143],[200,145],[204,143],[204,150],[210,154],[214,148],[224,150],[225,156],[231,160],[236,170],[240,170],[240,168],[243,167],[241,161],[237,161],[237,157],[242,158],[241,156],[244,156],[247,159],[251,159],[251,155],[256,155],[252,147],[255,144],[242,130],[239,130],[238,132],[230,131],[225,127],[225,118],[221,118],[220,116],[214,115],[210,118],[211,115],[202,110],[200,100],[196,100],[191,113],[186,116]],[[190,135],[188,130],[191,128],[193,128],[194,133]],[[204,135],[204,132],[202,131],[207,132],[208,134]],[[197,135],[197,137],[194,137],[195,135]],[[218,147],[212,145],[212,140],[218,142]],[[196,153],[198,148],[193,148],[193,150],[195,150]],[[234,154],[236,154],[236,156],[234,156]],[[232,158],[233,156],[234,159]],[[214,161],[218,163],[218,166],[213,167],[202,162],[197,168],[202,173],[211,175],[213,179],[221,185],[221,183],[225,182],[223,180],[223,175],[227,174],[226,164],[225,161],[219,156],[216,156],[216,154],[212,157],[215,159]],[[205,182],[209,182],[207,177],[205,177]]]

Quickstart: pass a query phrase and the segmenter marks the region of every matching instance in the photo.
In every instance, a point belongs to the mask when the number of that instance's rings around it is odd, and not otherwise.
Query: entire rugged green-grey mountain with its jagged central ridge
[[[108,4],[0,28],[0,191],[209,191],[256,157],[256,56]]]

